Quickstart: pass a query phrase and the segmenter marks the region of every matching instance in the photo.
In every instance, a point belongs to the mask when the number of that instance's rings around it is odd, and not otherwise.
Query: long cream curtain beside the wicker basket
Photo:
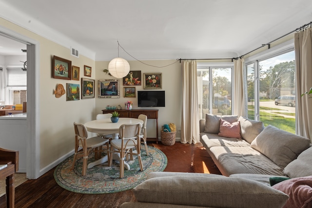
[[[199,141],[199,116],[197,98],[197,62],[182,61],[182,119],[181,143]]]

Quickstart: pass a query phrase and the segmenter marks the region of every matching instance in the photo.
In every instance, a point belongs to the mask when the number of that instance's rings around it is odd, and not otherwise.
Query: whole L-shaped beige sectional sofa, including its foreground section
[[[121,208],[312,207],[309,139],[236,115],[206,114],[200,141],[223,175],[152,172],[133,189],[136,202]],[[276,178],[288,180],[272,187]]]

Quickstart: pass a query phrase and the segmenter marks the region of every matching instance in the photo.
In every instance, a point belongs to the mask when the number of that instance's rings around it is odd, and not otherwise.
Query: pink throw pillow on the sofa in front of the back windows
[[[238,138],[241,139],[240,135],[240,124],[239,121],[235,121],[232,124],[226,120],[220,119],[220,132],[219,136]]]

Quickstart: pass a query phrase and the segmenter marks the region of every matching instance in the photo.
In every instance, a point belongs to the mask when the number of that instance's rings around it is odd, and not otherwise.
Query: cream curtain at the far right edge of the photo
[[[312,140],[312,28],[294,34],[296,60],[296,134]]]

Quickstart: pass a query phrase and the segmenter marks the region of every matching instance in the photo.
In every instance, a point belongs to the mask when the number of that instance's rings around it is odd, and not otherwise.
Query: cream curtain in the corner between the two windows
[[[233,114],[248,117],[247,76],[244,58],[234,60],[234,95],[232,98]]]

